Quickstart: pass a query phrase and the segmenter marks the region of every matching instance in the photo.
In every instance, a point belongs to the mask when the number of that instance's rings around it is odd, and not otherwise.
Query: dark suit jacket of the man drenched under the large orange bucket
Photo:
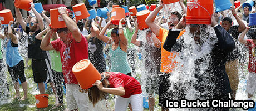
[[[200,94],[200,97],[209,99],[213,99],[215,97],[225,98],[225,96],[230,93],[231,89],[228,75],[225,72],[225,63],[227,62],[227,54],[235,47],[235,42],[232,36],[230,36],[230,34],[225,31],[223,27],[218,25],[214,27],[214,31],[218,41],[213,44],[213,48],[209,54],[206,54],[205,56],[202,56],[194,61],[195,70],[193,72],[193,74],[195,74],[195,78],[197,79],[194,84],[196,90],[199,92],[214,90],[211,92],[211,95]],[[184,41],[182,41],[184,39],[181,39],[181,41],[176,41],[179,33],[180,31],[169,31],[168,37],[164,43],[164,48],[167,51],[174,51],[175,49],[175,51],[179,52],[185,48]],[[203,64],[208,61],[209,67],[205,70],[204,74],[210,76],[201,77],[201,75],[198,75],[200,73],[199,71],[201,70],[199,64]],[[204,83],[204,79],[210,79],[211,82],[214,83],[214,87],[208,86],[211,83]]]

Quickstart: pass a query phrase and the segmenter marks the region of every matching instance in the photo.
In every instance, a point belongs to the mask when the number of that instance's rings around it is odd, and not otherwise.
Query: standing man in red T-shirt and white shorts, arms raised
[[[58,12],[66,23],[66,28],[55,29],[59,39],[50,43],[50,36],[55,33],[53,29],[47,32],[42,39],[41,49],[60,51],[63,75],[66,83],[67,109],[89,110],[87,93],[79,92],[78,82],[72,72],[72,67],[83,59],[88,59],[88,42],[79,32],[76,23],[68,17],[66,7],[58,7]]]

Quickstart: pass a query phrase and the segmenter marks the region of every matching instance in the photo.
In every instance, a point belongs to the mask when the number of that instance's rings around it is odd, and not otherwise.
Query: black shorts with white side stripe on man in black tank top
[[[32,70],[35,83],[53,82],[51,66],[48,59],[33,59]]]

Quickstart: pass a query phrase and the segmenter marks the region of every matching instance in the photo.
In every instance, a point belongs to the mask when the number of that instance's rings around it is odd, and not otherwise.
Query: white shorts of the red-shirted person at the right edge
[[[256,83],[256,74],[249,72],[245,92],[248,94],[254,94],[256,90],[255,83]]]

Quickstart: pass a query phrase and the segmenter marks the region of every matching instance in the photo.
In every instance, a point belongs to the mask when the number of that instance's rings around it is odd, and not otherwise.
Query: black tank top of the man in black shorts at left
[[[46,51],[40,48],[41,40],[36,39],[36,35],[40,33],[39,29],[36,32],[30,31],[29,27],[26,27],[26,33],[28,34],[28,58],[31,59],[46,59]]]

